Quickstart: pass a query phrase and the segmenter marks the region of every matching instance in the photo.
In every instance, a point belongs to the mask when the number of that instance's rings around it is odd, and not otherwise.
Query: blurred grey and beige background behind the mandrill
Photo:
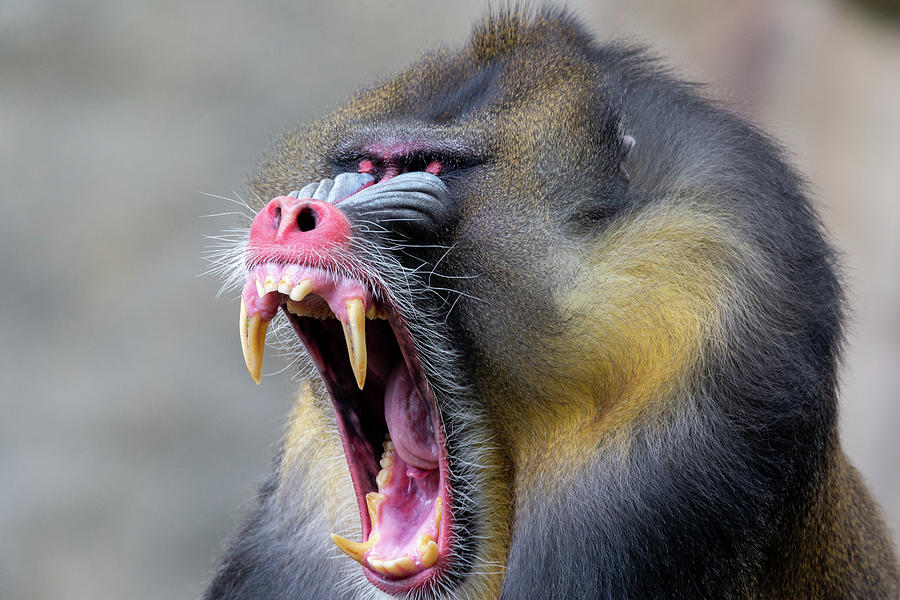
[[[843,439],[900,531],[900,7],[570,2],[789,149],[844,255]],[[255,386],[202,215],[277,132],[481,2],[0,0],[0,598],[193,598],[290,405]],[[279,369],[267,357],[266,372]],[[283,363],[282,363],[283,364]],[[896,535],[895,535],[896,537]]]

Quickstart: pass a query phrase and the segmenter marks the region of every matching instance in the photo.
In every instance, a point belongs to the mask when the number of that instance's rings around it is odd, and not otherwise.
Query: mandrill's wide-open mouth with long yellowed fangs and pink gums
[[[321,265],[254,266],[241,294],[240,334],[259,382],[279,308],[305,345],[334,406],[363,541],[332,539],[389,593],[426,585],[447,564],[447,451],[433,392],[404,317],[385,290]]]

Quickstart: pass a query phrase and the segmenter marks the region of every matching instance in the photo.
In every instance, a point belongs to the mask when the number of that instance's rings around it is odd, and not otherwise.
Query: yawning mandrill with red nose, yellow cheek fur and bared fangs
[[[249,189],[304,383],[207,600],[898,597],[802,181],[640,49],[495,11]]]

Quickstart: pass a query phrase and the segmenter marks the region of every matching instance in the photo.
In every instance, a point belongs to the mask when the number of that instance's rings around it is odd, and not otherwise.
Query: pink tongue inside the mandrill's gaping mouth
[[[437,439],[428,406],[402,360],[387,381],[384,419],[391,441],[405,463],[420,469],[438,467]]]

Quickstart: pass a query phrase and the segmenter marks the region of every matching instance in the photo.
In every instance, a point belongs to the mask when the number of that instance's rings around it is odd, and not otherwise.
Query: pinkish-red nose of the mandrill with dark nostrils
[[[341,210],[313,198],[279,196],[253,219],[250,245],[304,254],[346,243],[350,223]]]

